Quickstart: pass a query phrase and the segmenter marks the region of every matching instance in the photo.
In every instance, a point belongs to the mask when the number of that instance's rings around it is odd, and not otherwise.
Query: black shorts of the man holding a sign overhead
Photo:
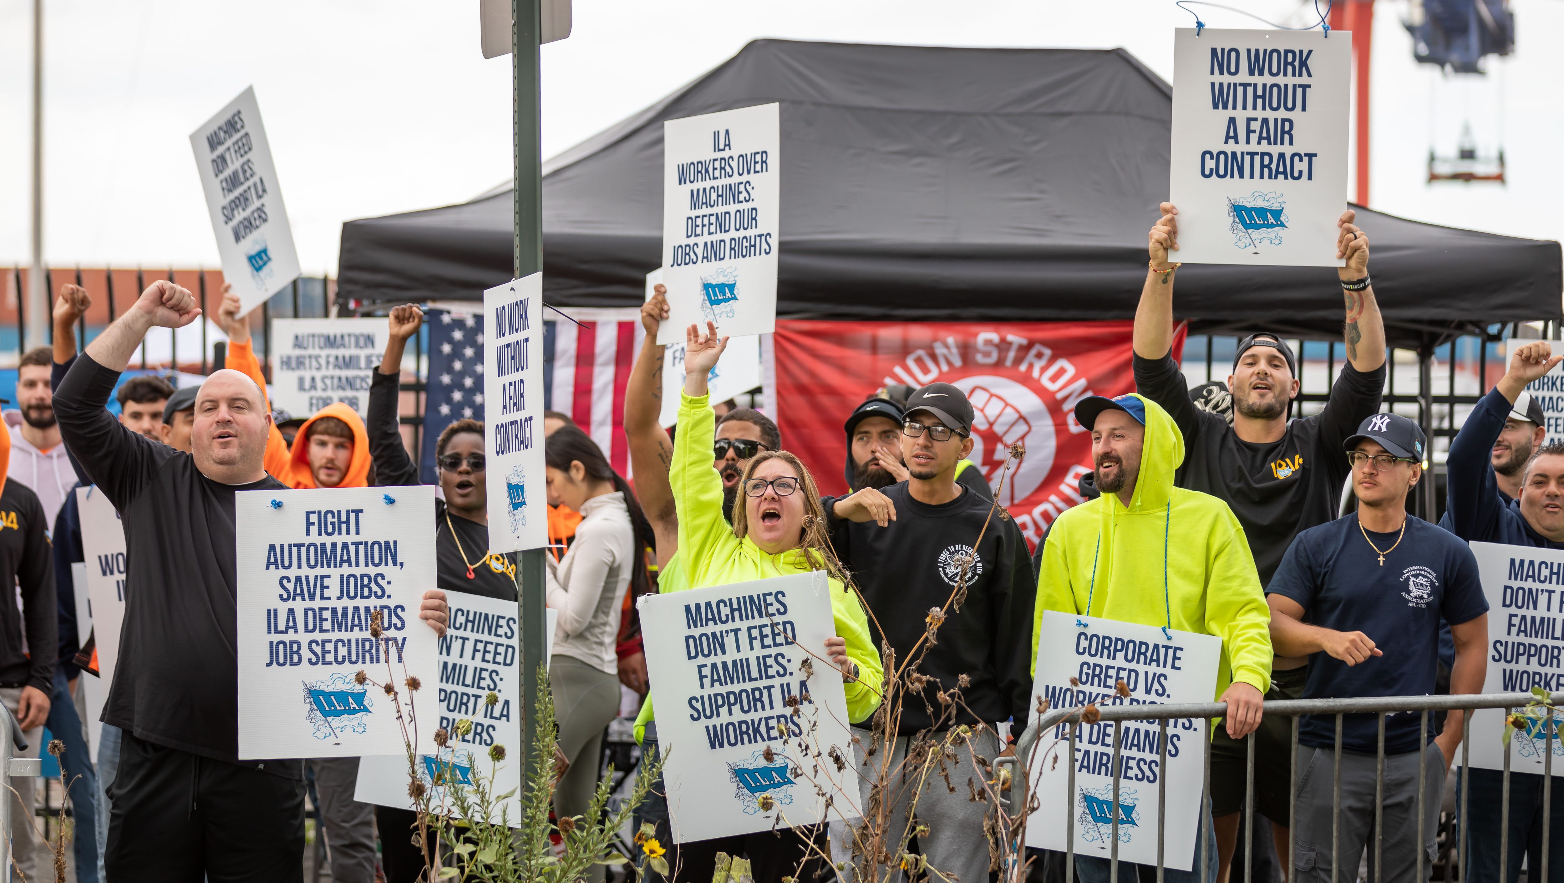
[[[1303,699],[1309,667],[1272,672],[1272,688],[1265,699]],[[1211,814],[1229,816],[1243,808],[1245,770],[1250,749],[1247,739],[1228,736],[1217,727],[1211,739]],[[1292,717],[1267,714],[1254,731],[1254,811],[1287,827],[1292,789]]]

